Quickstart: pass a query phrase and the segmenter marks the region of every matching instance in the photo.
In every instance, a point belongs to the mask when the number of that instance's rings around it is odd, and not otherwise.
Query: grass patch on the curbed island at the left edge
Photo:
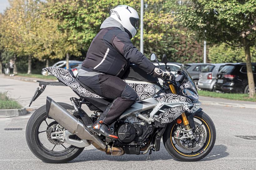
[[[22,106],[7,96],[7,92],[0,92],[0,109],[20,109]]]

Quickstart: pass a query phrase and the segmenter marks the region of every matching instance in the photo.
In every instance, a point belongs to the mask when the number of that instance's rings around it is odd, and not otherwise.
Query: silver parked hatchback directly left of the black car
[[[198,87],[202,90],[214,90],[214,85],[217,82],[218,72],[228,63],[218,63],[205,65],[201,67],[199,74]]]

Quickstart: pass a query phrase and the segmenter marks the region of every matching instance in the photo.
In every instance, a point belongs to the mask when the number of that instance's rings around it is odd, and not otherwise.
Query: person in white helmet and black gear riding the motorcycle
[[[110,17],[101,24],[101,30],[92,40],[78,72],[78,79],[84,85],[102,97],[114,99],[91,126],[92,131],[111,139],[118,137],[111,134],[108,125],[137,99],[135,90],[121,79],[130,63],[154,77],[173,76],[155,67],[131,43],[139,25],[138,13],[132,7],[119,5],[111,9]]]

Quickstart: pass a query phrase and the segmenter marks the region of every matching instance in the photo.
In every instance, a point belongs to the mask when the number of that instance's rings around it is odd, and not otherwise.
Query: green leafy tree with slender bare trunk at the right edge
[[[226,43],[234,48],[244,48],[249,96],[253,97],[255,84],[250,47],[255,45],[256,39],[256,1],[192,0],[175,2],[178,4],[175,7],[177,19],[185,27],[196,31],[199,39],[206,39],[210,44]]]

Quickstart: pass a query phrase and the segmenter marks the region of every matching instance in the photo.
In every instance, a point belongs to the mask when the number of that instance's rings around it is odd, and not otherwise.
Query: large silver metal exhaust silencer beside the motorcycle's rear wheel
[[[85,127],[80,119],[73,116],[48,96],[46,99],[46,113],[61,126],[63,126],[67,131],[75,134],[80,139],[92,140],[102,149],[106,148],[103,141],[98,136],[94,135],[87,127]]]

